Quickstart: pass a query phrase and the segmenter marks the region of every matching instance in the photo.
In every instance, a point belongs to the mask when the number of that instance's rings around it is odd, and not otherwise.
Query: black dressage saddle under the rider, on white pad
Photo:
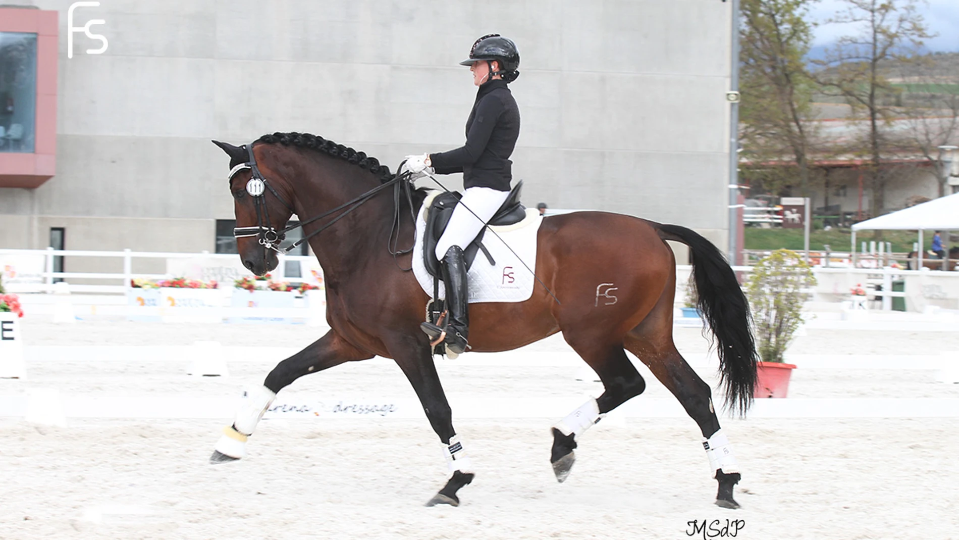
[[[522,222],[523,219],[526,218],[526,206],[520,203],[520,195],[522,192],[523,180],[520,180],[516,182],[513,189],[509,190],[509,197],[506,198],[506,201],[503,202],[500,209],[493,215],[489,224],[511,225]],[[448,191],[437,195],[433,198],[433,202],[430,203],[426,219],[426,234],[423,238],[423,262],[426,265],[426,270],[434,277],[440,276],[439,261],[436,260],[435,253],[436,242],[439,241],[439,237],[442,236],[443,231],[446,230],[446,225],[450,223],[450,217],[453,216],[453,209],[456,208],[456,204],[459,203],[461,197],[462,194],[459,192]],[[490,265],[496,264],[493,257],[490,256],[489,251],[482,245],[482,237],[485,232],[485,228],[480,230],[476,240],[463,250],[467,269],[473,266],[473,260],[476,259],[477,251],[480,249],[483,254],[486,255]]]

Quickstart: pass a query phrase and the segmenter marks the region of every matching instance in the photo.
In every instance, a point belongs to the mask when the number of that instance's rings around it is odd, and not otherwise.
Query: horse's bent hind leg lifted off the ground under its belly
[[[612,411],[630,398],[640,395],[646,387],[643,376],[626,358],[620,339],[577,335],[564,332],[563,337],[599,375],[605,388],[596,399],[590,399],[578,409],[560,420],[552,428],[552,452],[550,462],[557,481],[565,481],[573,468],[576,440],[607,412]]]

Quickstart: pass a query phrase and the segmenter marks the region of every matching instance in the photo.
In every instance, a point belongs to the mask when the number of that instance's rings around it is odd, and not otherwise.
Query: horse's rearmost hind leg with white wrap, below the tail
[[[671,324],[671,320],[669,323]],[[733,499],[733,486],[739,481],[739,470],[729,440],[719,429],[710,386],[699,378],[676,350],[671,331],[666,331],[665,336],[660,334],[649,337],[634,330],[626,336],[625,346],[669,388],[699,426],[710,468],[713,469],[713,478],[719,483],[716,505],[725,508],[739,507]]]

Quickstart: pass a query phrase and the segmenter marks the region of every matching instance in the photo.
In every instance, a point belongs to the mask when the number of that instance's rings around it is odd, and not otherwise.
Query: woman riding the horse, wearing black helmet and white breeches
[[[520,54],[516,44],[499,34],[483,35],[473,43],[470,58],[473,83],[479,86],[476,103],[466,121],[466,144],[442,153],[408,155],[406,167],[413,177],[430,169],[440,175],[463,174],[463,197],[450,223],[436,243],[441,261],[449,315],[446,327],[424,322],[423,331],[433,340],[444,340],[456,354],[468,348],[466,264],[463,249],[477,237],[509,195],[512,179],[509,160],[520,136],[520,109],[508,82],[519,77]]]

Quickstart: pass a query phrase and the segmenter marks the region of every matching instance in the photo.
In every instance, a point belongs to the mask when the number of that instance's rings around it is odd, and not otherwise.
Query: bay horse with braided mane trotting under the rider
[[[390,175],[375,158],[309,133],[267,134],[241,147],[213,142],[230,156],[235,236],[244,266],[257,275],[274,269],[284,225],[293,213],[299,216],[323,268],[330,331],[277,364],[263,387],[246,394],[210,461],[246,457],[247,437],[276,392],[297,378],[381,356],[407,376],[443,446],[449,477],[427,505],[458,505],[457,491],[474,473],[453,427],[433,347],[419,328],[430,295],[404,271],[411,257],[422,256],[410,251],[423,190],[413,190],[408,175]],[[676,262],[667,240],[690,247],[698,307],[718,341],[726,404],[744,413],[757,365],[748,304],[719,250],[686,227],[605,212],[545,218],[534,267],[541,283],[523,302],[473,304],[470,344],[474,352],[505,351],[562,332],[596,371],[602,394],[552,428],[550,462],[558,481],[569,475],[581,435],[643,393],[643,377],[625,354],[630,351],[699,426],[718,482],[715,503],[735,508],[740,474],[720,431],[711,389],[672,340]],[[603,285],[606,297],[598,301]],[[616,299],[607,299],[612,296]]]

